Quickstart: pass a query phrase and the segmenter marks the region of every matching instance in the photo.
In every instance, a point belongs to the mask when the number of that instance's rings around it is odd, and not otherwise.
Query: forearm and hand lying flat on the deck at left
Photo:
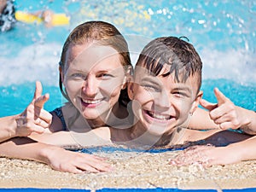
[[[16,137],[0,143],[0,154],[10,158],[36,160],[61,172],[108,172],[111,169],[100,157],[37,143],[27,137]]]

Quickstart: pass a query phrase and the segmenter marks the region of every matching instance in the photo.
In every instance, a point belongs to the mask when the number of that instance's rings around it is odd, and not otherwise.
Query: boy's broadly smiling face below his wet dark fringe
[[[148,74],[145,68],[136,69],[134,81],[129,84],[132,109],[140,122],[139,127],[151,135],[171,133],[173,128],[182,125],[198,106],[201,92],[196,93],[196,77],[185,83],[177,83],[169,67],[163,67],[158,76]]]

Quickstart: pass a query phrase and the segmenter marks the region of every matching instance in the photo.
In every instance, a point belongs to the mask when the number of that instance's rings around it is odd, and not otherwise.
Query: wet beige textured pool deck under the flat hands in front
[[[101,153],[113,165],[113,172],[84,174],[56,172],[30,160],[0,158],[0,188],[256,190],[256,160],[208,168],[169,165],[178,153]]]

